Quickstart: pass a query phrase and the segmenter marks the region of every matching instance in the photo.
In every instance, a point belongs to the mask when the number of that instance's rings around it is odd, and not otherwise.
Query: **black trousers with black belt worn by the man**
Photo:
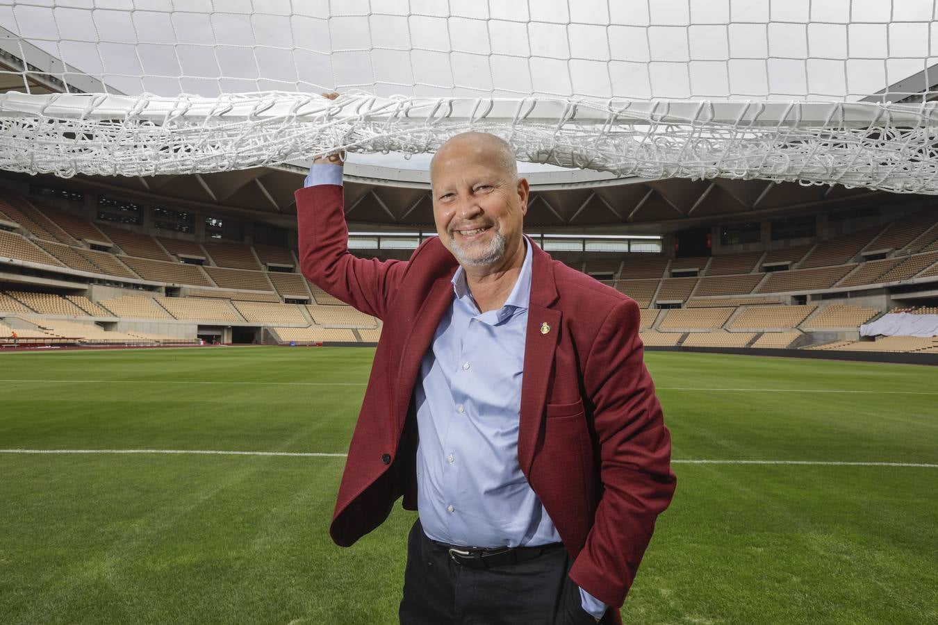
[[[402,625],[596,625],[567,576],[567,550],[476,570],[449,558],[420,526],[407,538]]]

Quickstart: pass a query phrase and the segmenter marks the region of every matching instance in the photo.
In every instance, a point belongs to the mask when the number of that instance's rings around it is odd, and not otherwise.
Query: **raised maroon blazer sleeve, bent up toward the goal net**
[[[295,198],[303,275],[342,302],[385,319],[407,262],[359,259],[349,253],[341,186],[307,186]]]

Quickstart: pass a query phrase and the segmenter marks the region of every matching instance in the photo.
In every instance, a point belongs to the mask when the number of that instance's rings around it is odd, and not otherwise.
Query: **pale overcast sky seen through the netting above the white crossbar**
[[[128,94],[855,99],[938,57],[934,11],[933,0],[0,0],[0,25]]]

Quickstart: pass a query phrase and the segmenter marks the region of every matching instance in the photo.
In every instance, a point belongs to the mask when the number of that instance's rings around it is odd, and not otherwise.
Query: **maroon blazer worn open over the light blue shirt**
[[[416,510],[412,397],[458,264],[437,237],[407,261],[358,259],[342,187],[295,196],[303,275],[384,320],[329,530],[348,546],[401,496]],[[570,577],[617,608],[673,496],[671,437],[643,364],[638,305],[537,246],[532,263],[518,458],[574,558]],[[620,622],[618,610],[603,622]]]

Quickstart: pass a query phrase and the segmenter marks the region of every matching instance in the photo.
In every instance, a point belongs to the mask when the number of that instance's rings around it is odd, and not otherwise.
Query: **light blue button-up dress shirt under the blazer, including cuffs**
[[[310,169],[306,186],[340,185],[340,165]],[[479,312],[462,267],[415,386],[417,510],[424,533],[475,547],[559,543],[518,462],[531,244],[505,304]],[[606,604],[582,588],[582,608]]]

